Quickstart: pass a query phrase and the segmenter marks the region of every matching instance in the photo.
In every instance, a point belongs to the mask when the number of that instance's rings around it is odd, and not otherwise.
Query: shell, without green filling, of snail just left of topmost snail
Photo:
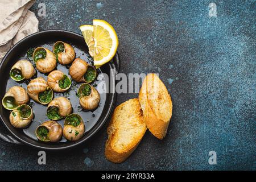
[[[38,68],[38,70],[42,73],[51,72],[56,67],[57,61],[55,54],[49,51],[49,49],[43,47],[36,48],[33,52],[32,59],[35,61],[36,52],[40,49],[44,49],[44,51],[46,51],[46,57],[42,57],[42,59],[36,61],[36,68]]]

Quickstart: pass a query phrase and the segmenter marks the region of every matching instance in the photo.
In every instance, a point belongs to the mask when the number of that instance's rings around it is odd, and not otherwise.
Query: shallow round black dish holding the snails
[[[16,63],[16,61],[21,59],[27,59],[26,52],[29,48],[36,48],[39,46],[46,47],[52,51],[53,43],[57,40],[62,40],[73,46],[76,52],[76,57],[86,60],[88,63],[92,63],[92,58],[88,54],[88,47],[84,42],[84,38],[74,32],[65,30],[47,30],[37,32],[26,38],[20,40],[13,48],[7,52],[6,56],[3,58],[0,64],[0,78],[1,78],[1,89],[0,98],[2,100],[3,96],[7,90],[14,85],[23,86],[26,88],[28,81],[16,82],[12,80],[9,76],[11,67]],[[120,67],[118,53],[114,56],[110,63],[105,64],[100,69],[98,69],[98,78],[91,84],[96,86],[97,89],[103,90],[102,85],[104,85],[104,90],[110,90],[110,86],[115,86],[115,75],[118,73]],[[69,66],[57,65],[58,70],[63,71],[68,75]],[[37,77],[42,76],[47,79],[47,74],[43,74],[37,71]],[[69,75],[68,75],[69,76]],[[70,77],[70,76],[69,76]],[[108,81],[107,81],[108,79]],[[72,81],[72,88],[69,90],[69,96],[67,93],[55,93],[54,97],[68,97],[71,100],[73,106],[73,113],[78,113],[84,119],[85,123],[85,134],[84,136],[76,142],[68,142],[64,138],[57,143],[44,143],[40,142],[35,137],[35,128],[40,125],[40,123],[50,120],[46,116],[46,107],[37,104],[33,100],[30,100],[32,109],[35,114],[35,118],[31,125],[27,129],[15,129],[9,122],[10,111],[6,110],[2,104],[0,105],[0,117],[4,125],[10,131],[12,135],[5,135],[0,133],[0,139],[5,140],[9,143],[24,143],[32,147],[40,148],[43,150],[63,150],[71,147],[75,147],[78,144],[86,142],[92,138],[104,124],[108,121],[110,114],[113,111],[115,104],[116,94],[110,92],[101,93],[100,106],[93,111],[81,110],[79,106],[79,98],[76,96],[77,89],[81,83],[76,83]],[[100,87],[100,88],[99,88]],[[114,89],[112,89],[114,90]],[[59,123],[63,125],[64,119],[60,120]],[[14,137],[12,137],[14,136]],[[16,140],[17,139],[17,140]]]

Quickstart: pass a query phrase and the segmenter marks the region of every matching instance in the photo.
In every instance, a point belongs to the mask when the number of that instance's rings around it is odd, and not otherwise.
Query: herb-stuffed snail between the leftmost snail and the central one
[[[40,104],[46,105],[52,101],[53,92],[52,89],[47,85],[46,80],[43,77],[35,78],[31,80],[27,85],[27,93],[32,100],[39,102]]]

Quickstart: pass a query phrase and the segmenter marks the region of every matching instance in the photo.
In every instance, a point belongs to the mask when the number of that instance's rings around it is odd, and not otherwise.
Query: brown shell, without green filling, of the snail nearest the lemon
[[[82,82],[84,81],[84,73],[87,71],[86,61],[77,58],[73,61],[71,67],[69,68],[69,75],[73,80]]]

